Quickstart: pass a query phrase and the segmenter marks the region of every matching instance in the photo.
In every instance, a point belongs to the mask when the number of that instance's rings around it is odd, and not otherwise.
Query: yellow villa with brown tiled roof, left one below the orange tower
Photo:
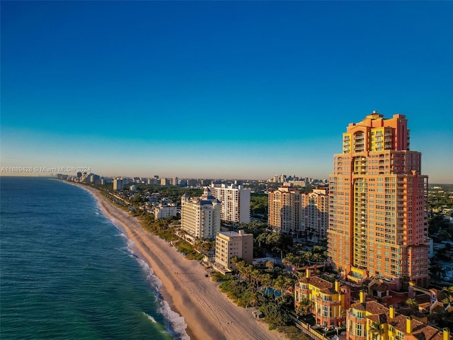
[[[336,327],[344,323],[343,310],[350,305],[350,288],[340,286],[311,276],[306,269],[306,277],[299,279],[294,286],[294,309],[299,306],[307,308],[314,314],[316,324],[323,327]]]

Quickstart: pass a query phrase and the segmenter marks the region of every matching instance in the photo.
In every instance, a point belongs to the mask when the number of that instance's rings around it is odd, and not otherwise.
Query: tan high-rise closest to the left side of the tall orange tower
[[[311,193],[301,193],[301,203],[302,233],[311,242],[319,242],[327,237],[327,189],[314,189]]]

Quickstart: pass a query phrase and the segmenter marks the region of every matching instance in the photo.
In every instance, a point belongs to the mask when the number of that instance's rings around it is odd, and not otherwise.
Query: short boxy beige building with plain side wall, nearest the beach
[[[232,269],[231,258],[237,256],[248,264],[253,261],[253,234],[219,232],[215,238],[215,261],[224,268]]]

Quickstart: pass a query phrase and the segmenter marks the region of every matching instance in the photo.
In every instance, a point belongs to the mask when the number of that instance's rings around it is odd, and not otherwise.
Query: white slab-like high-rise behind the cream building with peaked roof
[[[231,184],[212,184],[212,195],[220,201],[220,218],[235,223],[250,222],[251,189]]]

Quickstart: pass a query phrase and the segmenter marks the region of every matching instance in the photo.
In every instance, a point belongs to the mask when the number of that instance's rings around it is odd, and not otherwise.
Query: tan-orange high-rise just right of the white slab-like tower
[[[301,195],[289,186],[269,191],[268,223],[278,232],[294,234],[302,230]]]

